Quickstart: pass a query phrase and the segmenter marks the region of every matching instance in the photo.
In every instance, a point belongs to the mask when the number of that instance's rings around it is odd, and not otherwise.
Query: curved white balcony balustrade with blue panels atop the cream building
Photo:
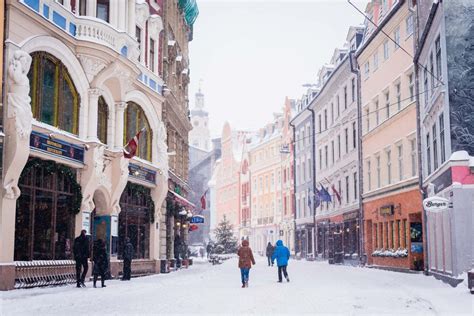
[[[122,56],[138,61],[137,41],[107,22],[95,17],[77,16],[52,0],[19,0],[19,3],[77,40],[110,47]]]

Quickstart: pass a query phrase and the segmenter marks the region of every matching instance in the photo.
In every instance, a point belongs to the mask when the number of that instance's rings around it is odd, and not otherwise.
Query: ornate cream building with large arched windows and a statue
[[[113,276],[126,237],[133,269],[157,272],[168,190],[161,1],[6,5],[1,288],[18,285],[19,262],[71,259],[81,229],[106,241]]]

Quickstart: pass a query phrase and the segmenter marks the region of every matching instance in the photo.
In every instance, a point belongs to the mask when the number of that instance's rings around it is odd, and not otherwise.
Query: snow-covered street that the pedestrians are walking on
[[[263,258],[240,286],[235,259],[197,262],[166,275],[108,281],[106,288],[64,287],[1,293],[1,315],[341,314],[472,315],[473,296],[421,274],[290,261],[290,283],[277,283]]]

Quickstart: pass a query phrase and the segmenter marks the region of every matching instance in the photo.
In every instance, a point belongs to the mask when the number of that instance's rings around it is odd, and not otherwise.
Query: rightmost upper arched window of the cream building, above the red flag
[[[148,120],[146,119],[145,112],[141,107],[134,103],[127,103],[127,110],[125,112],[125,132],[124,132],[124,145],[132,139],[139,130],[146,128],[146,131],[141,134],[138,142],[137,157],[151,161],[151,129]]]

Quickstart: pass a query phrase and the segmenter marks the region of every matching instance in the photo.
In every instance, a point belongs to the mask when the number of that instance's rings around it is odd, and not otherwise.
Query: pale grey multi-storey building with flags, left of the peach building
[[[321,69],[320,91],[310,104],[315,112],[316,187],[331,195],[330,202],[316,209],[316,253],[330,262],[359,260],[360,254],[357,76],[350,53],[363,32],[364,27],[349,29],[344,48],[335,49],[330,66]]]

